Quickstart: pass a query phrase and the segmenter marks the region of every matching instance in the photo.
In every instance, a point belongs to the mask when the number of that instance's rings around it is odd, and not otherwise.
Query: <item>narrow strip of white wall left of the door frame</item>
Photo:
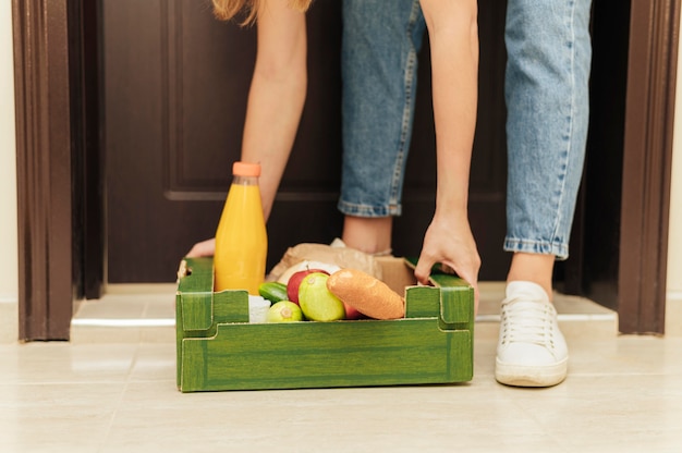
[[[12,2],[0,1],[0,344],[16,340],[19,299]]]

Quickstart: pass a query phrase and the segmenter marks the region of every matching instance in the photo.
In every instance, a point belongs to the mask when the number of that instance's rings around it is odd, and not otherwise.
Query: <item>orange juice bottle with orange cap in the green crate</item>
[[[246,290],[258,295],[265,280],[268,236],[260,203],[259,163],[234,162],[214,255],[215,291]]]

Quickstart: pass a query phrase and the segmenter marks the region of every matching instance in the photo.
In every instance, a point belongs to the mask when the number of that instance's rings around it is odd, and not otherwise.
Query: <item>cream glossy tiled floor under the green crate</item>
[[[619,336],[558,297],[571,365],[550,389],[494,379],[501,286],[482,286],[472,382],[180,393],[172,285],[83,303],[71,342],[0,345],[1,452],[679,452],[682,338]]]

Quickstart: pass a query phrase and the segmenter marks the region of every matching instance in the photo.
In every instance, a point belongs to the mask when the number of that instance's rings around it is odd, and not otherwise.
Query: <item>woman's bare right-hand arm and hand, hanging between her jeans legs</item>
[[[422,0],[429,33],[437,148],[436,212],[415,277],[442,262],[474,286],[480,257],[468,223],[468,174],[476,125],[478,27],[475,0]]]

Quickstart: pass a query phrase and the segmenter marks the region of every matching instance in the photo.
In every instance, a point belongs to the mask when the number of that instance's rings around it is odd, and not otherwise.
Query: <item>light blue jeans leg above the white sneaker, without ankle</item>
[[[504,249],[565,259],[585,155],[590,0],[510,0]]]

